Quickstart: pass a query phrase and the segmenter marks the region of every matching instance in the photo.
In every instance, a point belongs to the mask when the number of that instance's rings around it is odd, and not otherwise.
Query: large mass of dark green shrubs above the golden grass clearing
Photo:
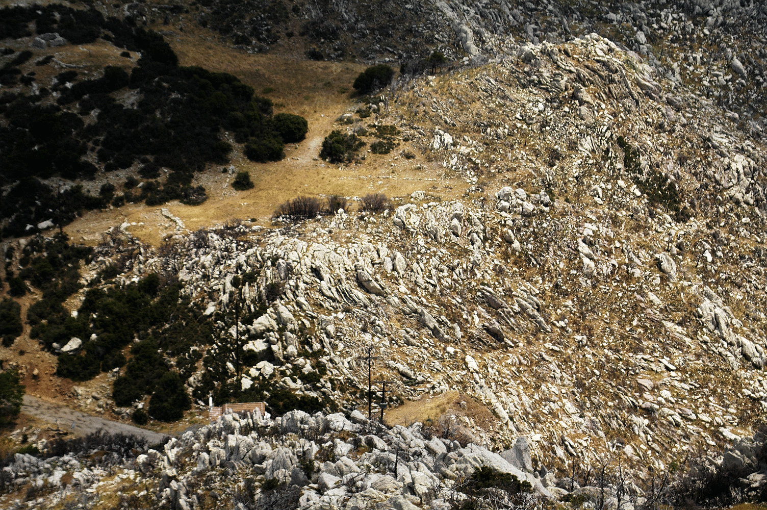
[[[232,146],[220,139],[222,129],[234,133],[235,141],[245,144],[246,156],[255,161],[282,159],[284,142],[301,140],[307,131],[302,117],[279,114],[272,118],[272,101],[255,96],[252,87],[232,74],[179,67],[176,54],[153,31],[117,18],[104,19],[96,11],[84,15],[85,11],[60,5],[18,8],[14,13],[20,23],[35,21],[38,30],[69,31],[75,41],[107,38],[127,51],[141,51],[142,58],[137,67],[107,66],[101,77],[91,79],[82,79],[87,75],[74,70],[61,72],[52,87],[59,94],[55,104],[44,106],[24,94],[4,99],[0,113],[8,122],[0,127],[0,186],[21,179],[0,200],[0,216],[10,219],[3,228],[5,237],[28,234],[26,225],[50,219],[45,216],[50,211],[55,212],[55,222],[66,224],[84,209],[110,203],[120,206],[144,199],[149,205],[172,199],[202,203],[204,190],[189,184],[193,173],[207,163],[228,161]],[[69,21],[61,25],[64,18]],[[70,23],[75,22],[82,25],[72,31]],[[31,52],[21,52],[12,64],[21,65],[30,57]],[[159,77],[162,86],[155,81]],[[137,108],[125,108],[110,95],[125,87],[140,94]],[[61,106],[75,102],[77,114],[62,110]],[[97,122],[86,126],[81,116],[96,109]],[[92,197],[77,186],[62,192],[37,180],[53,175],[92,178],[97,166],[89,162],[88,152],[95,153],[106,171],[130,168],[139,161],[145,178],[156,178],[162,167],[172,172],[163,188],[130,200],[106,190]]]

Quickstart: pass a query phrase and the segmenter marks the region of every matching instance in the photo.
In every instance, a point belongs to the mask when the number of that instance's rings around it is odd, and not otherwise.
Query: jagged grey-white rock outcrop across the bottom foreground
[[[107,446],[109,436],[101,438],[104,445],[95,442],[94,450],[114,449]],[[753,470],[762,459],[762,442],[761,435],[738,440],[723,456],[700,459],[680,486],[693,493],[697,481],[719,469],[748,474],[746,490],[758,493],[764,475]],[[476,498],[468,484],[479,469],[528,484],[529,493],[516,496],[524,508],[532,508],[535,498],[565,497],[599,501],[608,508],[653,505],[661,495],[642,492],[625,479],[597,475],[592,478],[597,485],[580,487],[545,465],[534,469],[525,437],[511,449],[492,452],[433,437],[420,423],[388,428],[359,411],[351,413],[351,421],[338,413],[310,416],[298,410],[274,420],[258,410],[225,414],[216,423],[140,451],[101,450],[100,456],[84,451],[48,459],[17,453],[3,468],[3,481],[10,485],[6,489],[38,488],[28,492],[25,508],[67,504],[83,493],[85,504],[117,493],[117,508],[193,509],[210,503],[223,508],[459,508]],[[50,494],[36,497],[41,492]],[[662,501],[668,497],[663,494]]]

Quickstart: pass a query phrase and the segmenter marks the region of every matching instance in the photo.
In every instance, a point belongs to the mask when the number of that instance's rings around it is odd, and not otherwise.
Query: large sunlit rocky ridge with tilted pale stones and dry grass
[[[664,91],[596,35],[520,50],[401,78],[377,108],[375,123],[467,179],[463,200],[416,192],[381,214],[271,230],[178,225],[173,252],[142,246],[121,278],[177,275],[213,314],[232,278],[253,271],[245,302],[255,310],[275,288],[276,301],[252,324],[219,323],[221,345],[258,337],[245,348],[262,361],[243,389],[274,380],[351,413],[373,346],[384,354],[375,375],[397,380],[400,398],[466,393],[497,418],[466,420],[476,443],[528,436],[555,472],[620,450],[641,486],[648,466],[750,436],[767,406],[758,131]],[[99,249],[84,281],[115,256]],[[315,370],[303,350],[324,350],[321,390],[285,377]]]

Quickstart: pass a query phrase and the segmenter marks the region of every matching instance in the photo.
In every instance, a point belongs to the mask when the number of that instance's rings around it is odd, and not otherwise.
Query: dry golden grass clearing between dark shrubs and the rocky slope
[[[166,31],[173,27],[156,24],[150,28]],[[173,233],[172,228],[162,225],[168,223],[160,215],[163,207],[183,219],[187,229],[195,230],[235,218],[255,218],[262,225],[271,225],[270,217],[277,206],[298,195],[364,196],[383,192],[387,196],[407,196],[423,189],[449,199],[460,196],[466,189],[466,183],[459,179],[441,179],[439,186],[427,182],[425,179],[439,177],[443,168],[438,163],[427,162],[420,154],[414,160],[394,160],[403,150],[419,153],[411,143],[403,143],[388,155],[367,153],[367,160],[358,166],[338,166],[318,160],[324,137],[331,130],[342,128],[334,125],[334,120],[357,108],[357,99],[350,92],[351,83],[364,70],[364,64],[310,61],[303,57],[305,48],[297,38],[283,41],[269,54],[247,54],[220,44],[213,32],[194,25],[186,25],[184,31],[176,30],[176,35],[168,35],[166,40],[179,55],[180,64],[235,74],[243,83],[254,87],[257,94],[272,99],[275,113],[285,111],[305,117],[309,122],[307,137],[301,143],[287,146],[285,160],[275,163],[253,163],[235,151],[230,164],[238,171],[247,170],[251,174],[254,189],[236,192],[229,186],[232,177],[222,174],[220,166],[212,166],[195,179],[196,185],[201,184],[208,191],[209,199],[204,205],[183,206],[170,202],[158,207],[137,204],[105,212],[85,212],[65,229],[77,242],[95,245],[100,241],[100,232],[128,222],[136,223],[128,228],[133,235],[143,242],[160,245],[166,235]],[[120,57],[122,50],[105,41],[58,49],[60,61],[87,63],[85,71],[97,72],[105,65],[128,64],[126,58]],[[35,55],[35,60],[48,52],[51,50],[41,52],[39,57]],[[52,65],[42,68],[48,81],[48,74],[52,77],[61,71]],[[130,172],[115,172],[107,178],[120,184],[129,175]],[[98,185],[94,189],[97,188]]]

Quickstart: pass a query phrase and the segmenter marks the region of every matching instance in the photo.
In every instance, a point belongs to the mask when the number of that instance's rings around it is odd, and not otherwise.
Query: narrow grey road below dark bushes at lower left
[[[161,443],[166,436],[165,434],[140,429],[127,423],[113,422],[99,416],[84,414],[68,407],[46,402],[31,395],[24,396],[24,405],[21,406],[21,413],[30,414],[50,423],[58,423],[61,430],[74,433],[76,436],[86,436],[96,432],[98,429],[104,429],[110,434],[125,433],[142,436],[150,444]]]

